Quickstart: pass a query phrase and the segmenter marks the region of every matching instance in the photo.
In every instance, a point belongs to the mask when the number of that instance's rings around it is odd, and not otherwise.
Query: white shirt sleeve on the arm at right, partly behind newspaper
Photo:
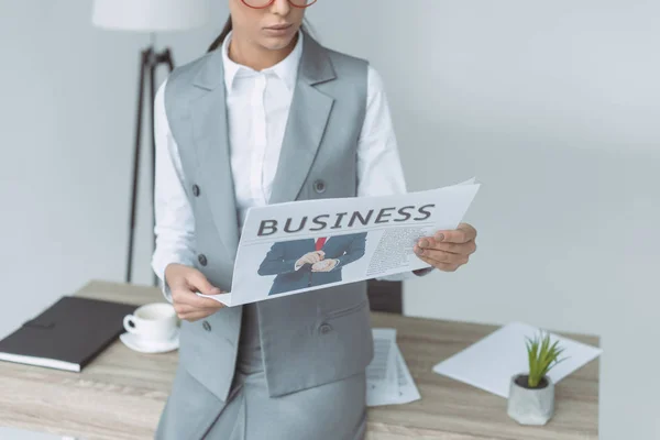
[[[371,65],[367,75],[366,114],[358,143],[358,196],[407,193],[404,170],[383,78]],[[377,279],[404,280],[413,272]]]

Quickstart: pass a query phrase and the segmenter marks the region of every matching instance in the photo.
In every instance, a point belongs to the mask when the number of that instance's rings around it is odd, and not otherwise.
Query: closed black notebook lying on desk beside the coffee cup
[[[79,372],[112,343],[138,306],[64,296],[0,341],[0,361]]]

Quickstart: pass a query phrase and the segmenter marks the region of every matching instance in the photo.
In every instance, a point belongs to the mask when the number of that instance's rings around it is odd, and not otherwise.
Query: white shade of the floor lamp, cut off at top
[[[121,31],[182,31],[204,25],[209,0],[95,0],[96,26]]]

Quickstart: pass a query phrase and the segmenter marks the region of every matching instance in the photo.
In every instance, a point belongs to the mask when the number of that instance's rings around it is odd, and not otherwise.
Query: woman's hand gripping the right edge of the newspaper
[[[438,231],[433,237],[425,237],[415,245],[415,253],[431,266],[454,272],[470,260],[476,251],[476,229],[468,223],[459,224],[452,231]]]

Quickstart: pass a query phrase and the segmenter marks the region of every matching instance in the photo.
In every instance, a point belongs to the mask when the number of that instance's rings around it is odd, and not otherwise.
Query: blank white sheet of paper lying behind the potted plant
[[[539,330],[522,322],[510,322],[465,350],[438,363],[433,366],[433,371],[508,398],[512,376],[529,371],[525,338],[534,339],[539,334]],[[550,333],[550,340],[552,343],[559,340],[559,345],[564,348],[560,359],[566,358],[548,373],[554,383],[603,352],[600,348],[553,333]]]

